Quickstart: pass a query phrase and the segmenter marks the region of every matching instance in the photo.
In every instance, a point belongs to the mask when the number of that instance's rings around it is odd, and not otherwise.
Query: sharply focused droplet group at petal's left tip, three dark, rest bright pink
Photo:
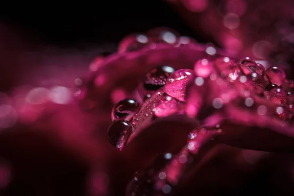
[[[182,112],[186,86],[193,78],[193,70],[174,71],[170,66],[157,66],[146,73],[138,87],[145,100],[142,106],[139,101],[127,98],[113,107],[113,123],[107,132],[110,143],[122,149],[131,133],[139,132],[154,118]]]

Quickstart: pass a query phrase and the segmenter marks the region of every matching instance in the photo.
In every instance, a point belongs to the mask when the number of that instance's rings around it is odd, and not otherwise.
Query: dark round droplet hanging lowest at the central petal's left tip
[[[124,141],[127,139],[130,124],[128,121],[119,120],[113,122],[107,131],[108,140],[110,144],[117,148],[123,147]]]

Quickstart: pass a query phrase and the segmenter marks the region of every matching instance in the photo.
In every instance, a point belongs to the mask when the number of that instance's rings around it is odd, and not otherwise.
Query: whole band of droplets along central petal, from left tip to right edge
[[[145,100],[142,106],[134,99],[124,99],[114,106],[114,123],[108,130],[109,140],[114,146],[122,148],[129,135],[148,126],[154,118],[183,113],[185,107],[188,116],[193,117],[189,113],[196,115],[202,101],[203,104],[221,109],[223,105],[241,97],[242,104],[255,108],[259,116],[271,113],[282,120],[290,120],[293,116],[294,85],[292,80],[285,77],[279,67],[265,69],[249,57],[239,61],[228,57],[199,59],[195,62],[194,70],[174,71],[171,66],[157,66],[146,73],[138,87],[142,100]],[[196,88],[195,91],[189,88],[191,85],[192,89]],[[190,92],[189,96],[187,92]],[[275,103],[276,108],[257,103],[256,96]],[[187,98],[189,100],[186,102]],[[193,102],[195,98],[198,99]],[[114,127],[118,128],[114,131]]]

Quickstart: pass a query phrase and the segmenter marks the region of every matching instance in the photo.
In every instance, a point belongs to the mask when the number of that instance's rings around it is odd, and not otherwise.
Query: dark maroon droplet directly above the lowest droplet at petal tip
[[[130,114],[136,113],[140,109],[140,103],[137,100],[126,98],[118,102],[112,109],[112,121],[123,120]]]

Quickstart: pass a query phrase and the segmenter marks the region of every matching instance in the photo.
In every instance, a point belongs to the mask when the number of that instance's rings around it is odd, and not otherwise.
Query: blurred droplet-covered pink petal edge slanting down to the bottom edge
[[[218,126],[217,126],[218,127]],[[198,150],[221,133],[219,128],[191,131],[187,144],[178,153],[159,154],[145,171],[136,172],[129,183],[127,195],[152,196],[176,193],[176,186],[197,162]]]

